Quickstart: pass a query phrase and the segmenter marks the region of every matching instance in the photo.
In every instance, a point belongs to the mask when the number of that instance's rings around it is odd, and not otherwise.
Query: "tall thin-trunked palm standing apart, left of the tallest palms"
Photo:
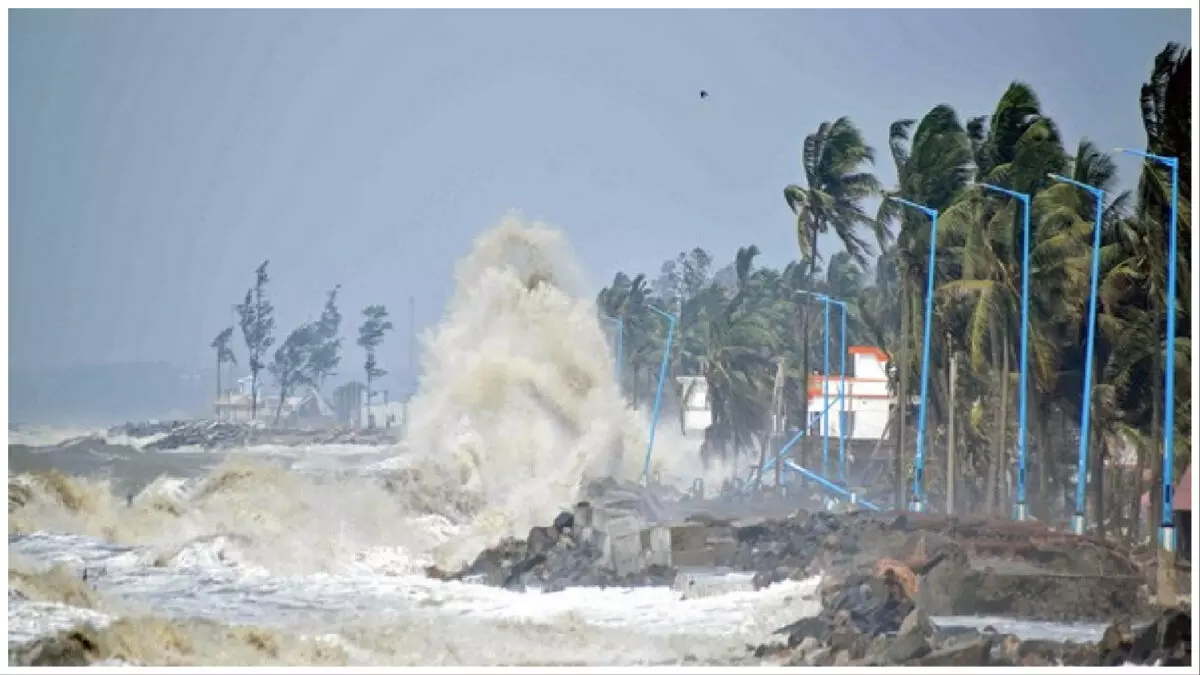
[[[864,165],[875,162],[875,150],[866,144],[863,133],[850,118],[822,123],[816,132],[804,139],[802,163],[805,187],[788,185],[784,198],[796,214],[796,240],[800,258],[809,264],[809,276],[815,276],[820,261],[817,238],[830,229],[838,234],[846,252],[860,264],[866,263],[870,244],[859,231],[865,228],[875,234],[882,247],[888,233],[882,223],[866,215],[862,202],[880,192],[880,183],[871,173],[862,171]],[[804,339],[803,372],[808,377],[809,312],[803,312]],[[802,387],[800,405],[808,418],[808,384]],[[808,438],[800,448],[800,461],[808,455]]]

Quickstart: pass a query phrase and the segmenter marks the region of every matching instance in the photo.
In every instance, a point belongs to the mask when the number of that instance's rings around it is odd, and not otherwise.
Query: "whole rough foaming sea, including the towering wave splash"
[[[607,330],[562,233],[509,217],[460,261],[394,446],[151,450],[104,430],[11,431],[10,647],[91,625],[100,665],[757,664],[748,645],[816,614],[820,578],[685,598],[424,572],[548,524],[590,478],[641,474],[647,414],[620,394]],[[80,436],[94,442],[56,446]],[[686,490],[724,470],[664,424],[653,471]]]

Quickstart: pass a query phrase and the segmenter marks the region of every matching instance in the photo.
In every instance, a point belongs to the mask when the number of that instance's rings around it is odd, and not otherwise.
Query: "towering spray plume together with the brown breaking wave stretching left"
[[[246,448],[132,500],[102,477],[11,478],[23,496],[10,498],[10,533],[148,545],[158,565],[212,549],[272,572],[336,572],[365,557],[404,573],[454,567],[524,536],[570,507],[589,477],[640,477],[647,416],[620,394],[562,233],[509,217],[481,234],[422,342],[407,435],[379,448],[391,456],[370,470],[301,474]],[[698,465],[695,443],[664,419],[655,474],[686,488]]]

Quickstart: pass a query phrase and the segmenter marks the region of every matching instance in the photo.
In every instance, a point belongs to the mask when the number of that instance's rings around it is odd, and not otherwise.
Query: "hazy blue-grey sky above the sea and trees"
[[[858,123],[890,183],[889,123],[940,102],[985,114],[1021,79],[1069,144],[1138,147],[1154,54],[1190,46],[1186,10],[10,22],[14,368],[206,365],[269,256],[281,331],[342,283],[350,329],[366,304],[392,310],[395,372],[408,295],[436,322],[454,262],[509,209],[563,228],[596,288],[696,245],[780,264],[796,255],[781,189],[821,121]]]

